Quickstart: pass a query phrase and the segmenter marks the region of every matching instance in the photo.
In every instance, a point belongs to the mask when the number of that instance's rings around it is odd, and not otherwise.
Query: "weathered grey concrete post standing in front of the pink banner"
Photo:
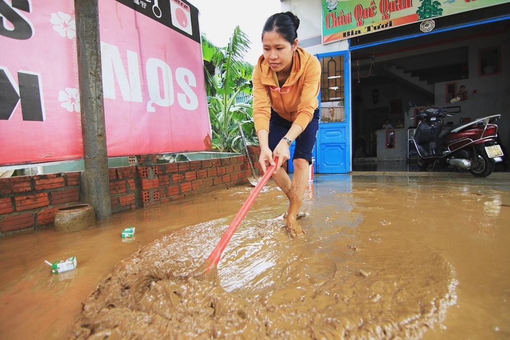
[[[98,0],[74,0],[85,171],[84,197],[97,219],[112,216],[101,74]]]

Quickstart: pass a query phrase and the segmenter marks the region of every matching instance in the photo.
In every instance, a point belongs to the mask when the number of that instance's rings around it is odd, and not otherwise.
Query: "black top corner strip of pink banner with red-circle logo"
[[[116,0],[200,43],[198,9],[184,0]]]

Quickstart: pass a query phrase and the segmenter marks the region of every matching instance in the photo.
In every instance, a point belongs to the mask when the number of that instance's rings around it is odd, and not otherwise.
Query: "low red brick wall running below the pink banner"
[[[249,151],[260,173],[259,147]],[[166,164],[157,164],[155,155],[137,158],[138,165],[109,169],[114,213],[247,183],[251,176],[245,155]],[[80,176],[65,172],[0,178],[0,236],[53,224],[59,208],[87,203]]]

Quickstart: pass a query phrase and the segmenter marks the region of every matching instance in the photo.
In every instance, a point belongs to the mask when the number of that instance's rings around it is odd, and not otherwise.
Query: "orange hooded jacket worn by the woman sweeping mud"
[[[319,60],[297,47],[289,78],[278,87],[276,72],[269,67],[264,56],[253,69],[253,121],[256,131],[269,131],[271,108],[282,118],[299,124],[303,130],[319,106],[321,66]]]

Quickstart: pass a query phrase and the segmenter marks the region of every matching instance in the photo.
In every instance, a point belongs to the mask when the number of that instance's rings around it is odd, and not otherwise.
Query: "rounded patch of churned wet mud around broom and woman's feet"
[[[454,269],[374,207],[402,197],[321,190],[303,204],[307,233],[292,240],[282,194],[269,188],[274,204],[252,209],[206,276],[194,270],[232,217],[144,246],[90,294],[69,338],[412,339],[440,323],[456,302]]]

